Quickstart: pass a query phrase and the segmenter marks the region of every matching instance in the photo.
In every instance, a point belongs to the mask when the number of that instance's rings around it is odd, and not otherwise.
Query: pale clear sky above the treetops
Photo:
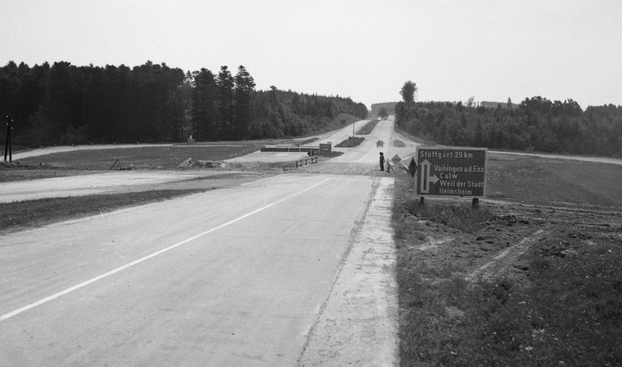
[[[622,105],[622,1],[1,0],[0,63],[235,73],[257,89],[399,101]]]

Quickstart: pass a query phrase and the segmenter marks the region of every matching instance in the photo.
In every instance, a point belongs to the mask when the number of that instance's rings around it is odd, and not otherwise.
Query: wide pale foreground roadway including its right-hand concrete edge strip
[[[392,184],[285,174],[0,236],[0,366],[392,366]]]

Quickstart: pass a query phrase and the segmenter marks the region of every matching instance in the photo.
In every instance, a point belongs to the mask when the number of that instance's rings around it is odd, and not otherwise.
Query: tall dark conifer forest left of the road
[[[255,90],[243,66],[233,75],[226,66],[183,72],[150,61],[133,68],[9,62],[0,68],[0,113],[14,120],[14,144],[49,146],[299,136],[338,113],[364,119],[367,108],[340,96]]]

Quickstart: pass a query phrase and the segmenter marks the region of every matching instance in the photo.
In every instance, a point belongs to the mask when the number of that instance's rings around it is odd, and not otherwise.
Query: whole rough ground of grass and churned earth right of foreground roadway
[[[396,179],[392,221],[402,366],[619,364],[622,211],[420,207],[412,184]]]

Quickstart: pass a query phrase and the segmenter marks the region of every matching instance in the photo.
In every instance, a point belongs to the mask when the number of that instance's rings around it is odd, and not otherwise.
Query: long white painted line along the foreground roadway
[[[199,237],[201,237],[201,236],[205,236],[205,235],[207,235],[208,233],[211,233],[211,232],[213,232],[213,231],[220,230],[220,228],[223,228],[223,227],[225,227],[225,226],[228,226],[228,225],[230,225],[231,223],[235,223],[236,221],[242,220],[242,219],[246,218],[247,216],[251,216],[251,215],[253,215],[253,214],[255,214],[255,213],[259,213],[259,211],[262,211],[262,210],[264,210],[264,209],[267,209],[267,208],[269,208],[269,207],[272,207],[272,205],[276,205],[276,204],[278,204],[278,203],[280,203],[280,202],[284,202],[285,200],[287,200],[287,199],[289,199],[289,198],[292,198],[292,197],[295,197],[296,195],[299,195],[300,193],[303,193],[303,192],[305,192],[305,191],[311,190],[313,187],[316,187],[316,186],[318,186],[318,185],[322,185],[324,182],[327,182],[328,180],[330,180],[330,177],[329,177],[328,179],[323,180],[322,182],[318,182],[318,183],[317,183],[317,184],[315,184],[315,185],[312,185],[312,186],[310,186],[310,187],[307,187],[307,188],[305,188],[305,189],[304,189],[304,190],[302,190],[302,191],[299,191],[299,192],[297,192],[297,193],[294,193],[294,194],[292,194],[292,195],[289,195],[289,197],[282,198],[281,200],[278,200],[278,201],[276,201],[276,202],[274,202],[274,203],[268,204],[268,205],[266,205],[265,207],[259,208],[258,210],[251,211],[250,213],[244,214],[243,216],[240,216],[239,218],[236,218],[236,219],[234,219],[234,220],[228,221],[228,222],[227,222],[227,223],[225,223],[225,224],[222,224],[222,225],[217,226],[217,227],[215,227],[215,228],[211,228],[211,230],[207,230],[207,231],[205,231],[205,232],[199,233],[198,235],[194,235],[194,236],[192,236],[192,237],[190,237],[190,238],[184,239],[183,241],[180,241],[180,242],[178,242],[178,243],[172,244],[172,245],[170,245],[170,246],[169,246],[169,247],[167,247],[167,248],[161,249],[160,251],[156,251],[155,253],[152,253],[152,254],[150,254],[150,255],[147,255],[147,256],[145,256],[144,258],[134,260],[134,261],[132,261],[132,262],[129,262],[128,264],[125,264],[125,265],[123,265],[123,266],[119,266],[119,267],[117,267],[116,269],[113,269],[113,270],[111,270],[111,271],[109,271],[109,272],[106,272],[106,273],[104,273],[104,274],[101,274],[100,276],[94,277],[93,279],[89,279],[88,281],[81,282],[81,283],[80,283],[80,284],[78,284],[77,286],[73,286],[73,287],[67,288],[67,289],[65,289],[65,290],[62,290],[61,292],[58,292],[57,294],[50,295],[49,297],[45,297],[44,299],[40,299],[40,300],[38,300],[37,302],[34,302],[34,303],[32,303],[32,304],[29,304],[29,305],[26,305],[26,306],[22,307],[21,309],[17,309],[17,310],[11,311],[11,312],[9,312],[8,314],[4,314],[4,315],[0,316],[0,321],[2,321],[2,320],[6,320],[7,318],[9,318],[9,317],[13,317],[13,316],[15,316],[15,315],[17,315],[17,314],[21,314],[22,312],[24,312],[24,311],[26,311],[26,310],[32,309],[33,307],[37,307],[38,305],[44,304],[45,302],[48,302],[48,301],[53,300],[53,299],[56,299],[56,298],[60,297],[61,295],[68,294],[69,292],[72,292],[73,290],[80,289],[81,287],[84,287],[84,286],[88,286],[89,284],[91,284],[91,283],[93,283],[93,282],[96,282],[96,281],[99,281],[99,280],[100,280],[100,279],[102,279],[102,278],[105,278],[105,277],[107,277],[107,276],[111,276],[111,275],[113,275],[113,274],[115,274],[115,273],[117,273],[117,272],[119,272],[119,271],[122,271],[123,269],[127,269],[127,268],[128,268],[128,267],[130,267],[130,266],[134,266],[134,265],[138,264],[139,262],[143,262],[143,261],[145,261],[145,260],[147,260],[147,259],[151,259],[151,258],[153,258],[154,256],[157,256],[157,255],[159,255],[159,254],[161,254],[161,253],[165,253],[166,251],[169,251],[170,249],[174,249],[174,248],[176,248],[177,246],[181,246],[181,245],[182,245],[182,244],[184,244],[184,243],[188,243],[188,242],[192,241],[193,239],[197,239],[197,238],[199,238]]]

